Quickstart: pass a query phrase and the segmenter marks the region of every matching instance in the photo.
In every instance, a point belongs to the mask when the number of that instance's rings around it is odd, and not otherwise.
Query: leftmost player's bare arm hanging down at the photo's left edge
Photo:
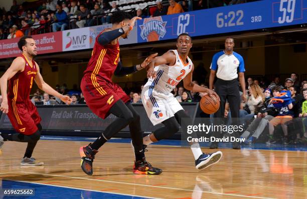
[[[3,97],[3,102],[0,106],[0,111],[3,113],[9,113],[9,106],[8,106],[8,80],[10,80],[16,73],[21,72],[25,69],[25,60],[22,57],[17,57],[14,59],[10,68],[2,75],[0,78],[0,85],[1,85],[1,94]]]

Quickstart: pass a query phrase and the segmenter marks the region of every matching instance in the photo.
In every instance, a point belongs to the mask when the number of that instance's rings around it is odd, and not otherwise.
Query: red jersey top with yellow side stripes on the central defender
[[[104,31],[100,32],[96,37],[92,56],[87,64],[87,68],[84,71],[84,75],[91,73],[92,83],[97,83],[96,76],[100,76],[107,81],[111,81],[112,75],[117,67],[119,61],[119,43],[115,45],[100,45],[98,37]]]

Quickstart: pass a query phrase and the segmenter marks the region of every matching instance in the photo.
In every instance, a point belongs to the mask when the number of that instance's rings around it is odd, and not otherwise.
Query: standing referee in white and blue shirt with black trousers
[[[237,80],[239,74],[239,81],[242,87],[242,100],[246,102],[246,91],[245,91],[245,79],[244,79],[244,60],[241,55],[233,51],[234,39],[226,38],[225,50],[216,53],[212,58],[210,66],[210,78],[209,78],[209,89],[213,88],[213,82],[215,74],[217,81],[215,82],[215,91],[220,96],[220,109],[214,114],[215,118],[224,118],[226,100],[229,103],[232,118],[239,118],[240,110],[240,91],[239,82]],[[233,120],[234,121],[234,120]],[[221,120],[223,123],[223,120]],[[220,138],[220,132],[214,132],[213,137]],[[233,136],[239,137],[237,133]],[[210,145],[211,149],[218,148],[218,142],[212,142]],[[240,149],[240,143],[236,142],[232,145],[233,149]]]

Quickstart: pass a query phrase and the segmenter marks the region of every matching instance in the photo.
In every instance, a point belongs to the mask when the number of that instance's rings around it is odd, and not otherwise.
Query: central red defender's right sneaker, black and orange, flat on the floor
[[[145,158],[134,162],[133,173],[135,174],[145,174],[145,175],[159,175],[162,173],[162,169],[152,167]]]

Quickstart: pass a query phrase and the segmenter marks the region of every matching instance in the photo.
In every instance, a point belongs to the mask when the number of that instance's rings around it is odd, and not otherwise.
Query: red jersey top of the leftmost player
[[[35,61],[30,62],[23,54],[21,57],[26,61],[25,70],[17,72],[9,81],[8,97],[13,103],[29,100],[33,80],[37,73]]]

